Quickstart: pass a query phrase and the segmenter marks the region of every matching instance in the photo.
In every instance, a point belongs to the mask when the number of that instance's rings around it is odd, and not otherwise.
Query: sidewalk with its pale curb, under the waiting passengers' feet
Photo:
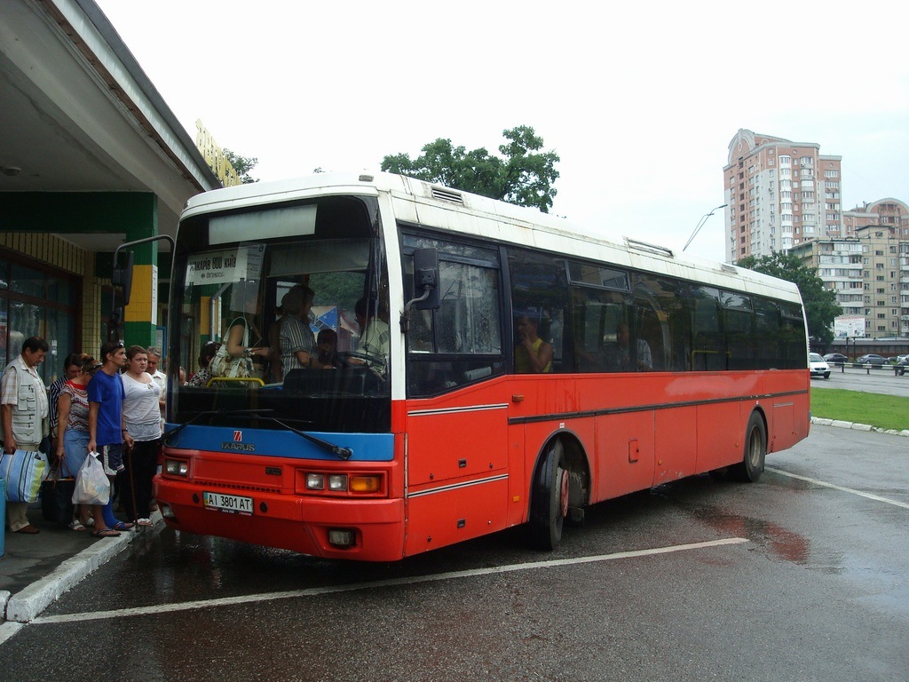
[[[48,523],[41,503],[28,509],[28,519],[41,529],[37,535],[5,533],[0,557],[0,623],[27,623],[95,568],[122,552],[140,533],[156,533],[164,521],[152,515],[155,528],[124,531],[120,537],[92,537]]]

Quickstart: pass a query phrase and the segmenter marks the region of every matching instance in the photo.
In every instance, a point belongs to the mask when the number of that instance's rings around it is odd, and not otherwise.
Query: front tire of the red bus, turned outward
[[[552,551],[562,542],[568,513],[568,469],[562,441],[550,443],[534,476],[530,503],[530,540],[534,547]]]

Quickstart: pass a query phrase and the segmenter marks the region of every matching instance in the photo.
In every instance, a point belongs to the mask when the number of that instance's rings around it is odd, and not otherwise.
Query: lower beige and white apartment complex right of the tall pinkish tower
[[[790,249],[824,286],[843,315],[863,317],[864,336],[909,336],[909,206],[886,198],[845,211],[849,237],[820,238]]]

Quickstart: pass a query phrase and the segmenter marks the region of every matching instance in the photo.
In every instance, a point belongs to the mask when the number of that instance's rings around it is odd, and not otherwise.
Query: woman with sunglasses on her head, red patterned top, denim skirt
[[[85,448],[88,446],[88,382],[92,375],[101,368],[101,363],[94,357],[85,356],[79,373],[65,382],[57,401],[57,440],[56,457],[60,462],[60,474],[75,476],[85,462]],[[75,505],[74,518],[69,527],[72,530],[85,530],[93,524],[91,516],[101,518],[101,507],[97,514],[88,505]],[[100,528],[104,528],[101,520]],[[117,533],[119,535],[119,533]]]

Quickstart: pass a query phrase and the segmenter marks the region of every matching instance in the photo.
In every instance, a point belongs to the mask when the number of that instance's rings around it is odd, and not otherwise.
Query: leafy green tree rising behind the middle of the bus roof
[[[415,159],[405,153],[385,156],[382,170],[549,213],[557,194],[553,185],[559,176],[555,170],[559,156],[552,150],[541,151],[543,138],[527,125],[504,130],[502,135],[507,140],[499,145],[504,158],[490,155],[484,147],[468,152],[439,137]]]

